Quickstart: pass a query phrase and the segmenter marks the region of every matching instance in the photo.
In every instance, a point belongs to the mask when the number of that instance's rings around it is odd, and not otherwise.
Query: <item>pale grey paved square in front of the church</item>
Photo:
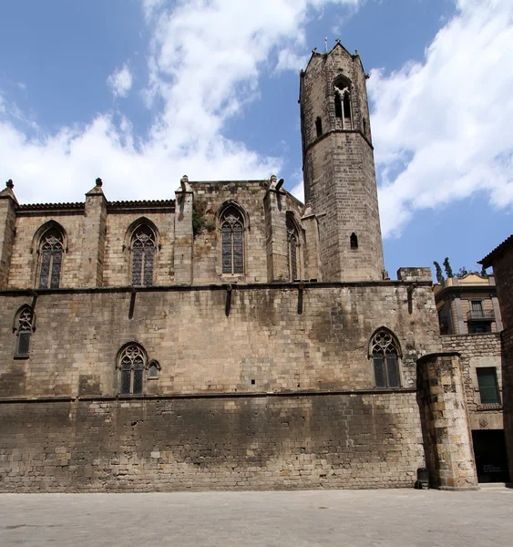
[[[513,490],[0,494],[0,545],[508,546]]]

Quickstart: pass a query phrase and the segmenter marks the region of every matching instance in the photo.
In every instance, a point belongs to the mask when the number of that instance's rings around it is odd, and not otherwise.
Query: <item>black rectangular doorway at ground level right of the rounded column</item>
[[[509,482],[503,429],[472,431],[478,482]]]

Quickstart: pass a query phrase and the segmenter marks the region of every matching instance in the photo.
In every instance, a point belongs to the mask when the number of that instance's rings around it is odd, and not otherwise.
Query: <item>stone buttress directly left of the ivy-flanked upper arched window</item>
[[[192,284],[192,209],[194,192],[189,184],[189,178],[184,175],[180,179],[180,189],[175,192],[175,242],[174,242],[174,272],[176,284]]]

